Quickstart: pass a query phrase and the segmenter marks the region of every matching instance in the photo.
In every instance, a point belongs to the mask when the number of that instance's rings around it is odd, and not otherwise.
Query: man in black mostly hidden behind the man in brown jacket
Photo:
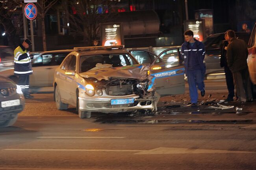
[[[230,69],[228,68],[228,63],[226,60],[226,50],[228,46],[228,41],[227,41],[227,36],[225,33],[225,41],[221,44],[221,67],[224,67],[225,71],[225,76],[226,76],[226,84],[228,88],[228,97],[226,98],[226,101],[233,101],[234,97],[234,80],[233,80],[233,75]]]

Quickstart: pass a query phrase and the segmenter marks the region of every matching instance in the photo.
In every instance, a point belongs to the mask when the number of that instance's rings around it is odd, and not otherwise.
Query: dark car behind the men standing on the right
[[[248,43],[250,33],[236,32],[236,37]],[[206,75],[209,73],[224,73],[224,68],[220,66],[221,44],[225,40],[224,33],[208,36],[204,41]]]

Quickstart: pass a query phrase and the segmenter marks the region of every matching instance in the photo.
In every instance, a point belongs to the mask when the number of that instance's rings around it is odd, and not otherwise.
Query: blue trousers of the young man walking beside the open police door
[[[198,93],[197,88],[200,91],[204,90],[204,74],[200,69],[188,70],[187,71],[187,80],[189,84],[189,96],[191,103],[197,103]]]

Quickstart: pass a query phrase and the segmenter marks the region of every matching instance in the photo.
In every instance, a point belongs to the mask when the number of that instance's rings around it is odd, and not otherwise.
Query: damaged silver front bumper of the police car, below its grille
[[[127,99],[133,98],[134,103],[111,105],[111,99]],[[153,97],[141,98],[139,95],[126,95],[111,98],[87,98],[79,97],[79,105],[81,111],[103,112],[103,113],[119,113],[135,110],[154,110]]]

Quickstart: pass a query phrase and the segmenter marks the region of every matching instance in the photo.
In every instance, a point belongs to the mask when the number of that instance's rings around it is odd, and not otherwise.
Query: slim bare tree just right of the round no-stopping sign
[[[45,37],[45,16],[49,9],[56,4],[58,0],[38,0],[37,7],[38,7],[38,15],[41,19],[42,24],[42,37],[43,37],[43,50],[46,51],[46,37]]]

